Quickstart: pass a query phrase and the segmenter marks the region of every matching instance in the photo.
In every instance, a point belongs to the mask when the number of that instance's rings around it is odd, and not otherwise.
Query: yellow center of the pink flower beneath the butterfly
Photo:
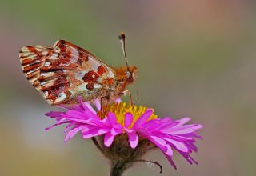
[[[148,108],[144,106],[132,106],[127,105],[126,102],[119,102],[114,104],[107,104],[106,106],[102,107],[102,110],[98,111],[98,116],[103,118],[106,118],[108,112],[112,112],[117,117],[117,121],[119,124],[124,126],[125,124],[125,114],[131,113],[133,114],[133,122],[131,123],[130,127],[134,126],[134,123],[146,112]],[[154,112],[154,111],[153,111]],[[152,120],[158,118],[157,115],[151,114],[150,118],[148,120]]]

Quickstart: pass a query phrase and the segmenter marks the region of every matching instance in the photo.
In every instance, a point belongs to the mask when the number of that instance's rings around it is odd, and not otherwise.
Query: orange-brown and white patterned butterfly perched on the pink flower
[[[119,36],[126,58],[125,34]],[[28,81],[53,106],[74,104],[78,96],[83,101],[102,98],[113,102],[134,84],[136,66],[113,68],[89,51],[65,40],[54,46],[24,46],[19,59]]]

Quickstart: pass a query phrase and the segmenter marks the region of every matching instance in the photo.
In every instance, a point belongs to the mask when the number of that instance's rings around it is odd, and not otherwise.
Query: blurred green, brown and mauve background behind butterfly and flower
[[[44,130],[53,107],[27,82],[18,52],[62,38],[122,66],[121,31],[139,68],[137,103],[204,126],[198,166],[179,154],[178,170],[161,152],[144,158],[161,163],[164,176],[254,176],[256,3],[249,0],[0,0],[0,175],[109,175],[90,140],[64,143],[62,127]],[[157,174],[139,163],[124,175]]]

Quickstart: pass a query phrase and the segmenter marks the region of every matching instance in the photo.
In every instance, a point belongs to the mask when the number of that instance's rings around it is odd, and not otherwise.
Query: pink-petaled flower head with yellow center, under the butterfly
[[[190,118],[179,120],[169,117],[158,118],[154,115],[153,109],[126,105],[125,102],[120,101],[102,107],[96,101],[94,106],[97,110],[94,110],[89,102],[82,102],[81,98],[78,100],[79,104],[67,109],[66,112],[47,113],[46,115],[55,118],[57,123],[46,130],[67,124],[65,141],[73,138],[78,132],[81,133],[82,138],[98,137],[99,141],[102,141],[102,153],[113,160],[129,158],[132,162],[145,154],[152,146],[157,146],[175,169],[176,166],[172,160],[174,150],[182,154],[190,164],[197,163],[190,154],[197,151],[194,138],[201,137],[195,132],[202,126],[186,125]],[[134,157],[128,154],[127,158],[127,154],[124,154],[127,150],[136,150],[139,156]]]

